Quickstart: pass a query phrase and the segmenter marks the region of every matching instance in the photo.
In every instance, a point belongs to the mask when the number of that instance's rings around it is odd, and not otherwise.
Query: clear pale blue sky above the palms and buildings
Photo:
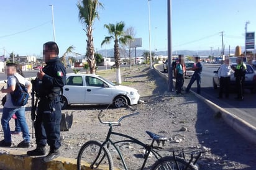
[[[101,47],[109,35],[104,24],[123,21],[125,29],[132,27],[135,38],[142,38],[140,50],[167,50],[167,1],[169,0],[99,0],[99,20],[94,20],[95,50],[114,48],[114,42]],[[245,44],[247,32],[255,32],[255,0],[170,0],[171,50],[225,51]],[[0,0],[0,56],[42,56],[43,43],[53,41],[52,6],[55,41],[60,56],[70,45],[85,55],[85,25],[78,18],[76,0]],[[52,6],[49,6],[52,5]],[[149,17],[150,16],[150,17]],[[150,36],[149,36],[150,21]],[[221,33],[222,32],[222,33]],[[150,38],[149,38],[150,37]],[[150,39],[150,40],[149,40]],[[156,52],[157,52],[156,51]]]

